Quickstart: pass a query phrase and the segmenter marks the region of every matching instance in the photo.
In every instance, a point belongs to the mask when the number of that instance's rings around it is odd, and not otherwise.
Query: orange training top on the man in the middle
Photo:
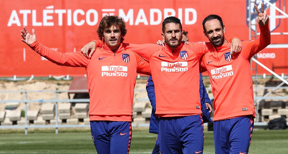
[[[232,40],[232,39],[231,39]],[[97,46],[101,41],[93,40]],[[207,47],[209,46],[209,47]],[[211,43],[181,43],[175,50],[168,45],[124,44],[150,63],[155,85],[156,114],[175,117],[201,114],[199,60],[213,46]],[[96,53],[96,52],[95,52]]]

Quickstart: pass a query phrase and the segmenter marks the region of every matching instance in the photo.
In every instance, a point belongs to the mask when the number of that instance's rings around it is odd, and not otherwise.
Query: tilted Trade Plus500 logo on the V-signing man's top
[[[232,65],[215,68],[210,71],[212,79],[221,79],[234,75]]]

